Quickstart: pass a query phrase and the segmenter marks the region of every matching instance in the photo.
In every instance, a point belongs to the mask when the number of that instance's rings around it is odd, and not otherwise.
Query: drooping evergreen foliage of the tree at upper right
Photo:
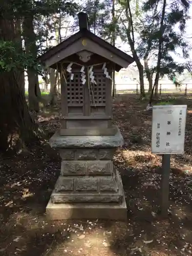
[[[143,4],[145,20],[140,31],[140,41],[137,52],[140,58],[144,58],[146,50],[153,55],[153,63],[150,71],[155,73],[157,70],[160,77],[167,77],[173,81],[176,74],[182,74],[184,70],[191,71],[189,61],[189,42],[184,37],[186,22],[189,19],[189,2],[180,0],[172,2],[165,9],[163,20],[163,30],[160,31],[162,2],[160,0],[148,0]],[[159,45],[160,44],[160,45]],[[155,59],[158,58],[158,49],[161,47],[160,66],[157,67]],[[180,54],[182,52],[182,55]],[[179,63],[175,57],[183,58],[185,61]],[[156,63],[155,63],[156,62]],[[174,81],[176,87],[179,81]]]

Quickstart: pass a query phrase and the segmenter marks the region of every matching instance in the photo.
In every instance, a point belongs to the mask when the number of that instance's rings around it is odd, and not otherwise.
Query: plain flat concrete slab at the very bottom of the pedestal
[[[100,219],[126,221],[125,197],[121,204],[53,204],[51,199],[46,207],[51,220]]]

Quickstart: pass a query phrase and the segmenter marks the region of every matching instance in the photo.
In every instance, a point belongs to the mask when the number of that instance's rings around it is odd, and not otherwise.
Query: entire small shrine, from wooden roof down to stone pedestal
[[[79,32],[40,57],[61,77],[62,126],[50,139],[60,152],[61,173],[47,212],[53,219],[126,219],[113,165],[123,138],[112,123],[112,73],[134,59],[90,32],[86,13],[78,17]]]

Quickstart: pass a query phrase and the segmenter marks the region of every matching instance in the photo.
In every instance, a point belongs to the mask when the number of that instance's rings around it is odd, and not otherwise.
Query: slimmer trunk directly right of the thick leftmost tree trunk
[[[33,29],[33,16],[24,19],[24,36],[26,53],[31,54],[34,59],[37,57],[36,36]],[[28,93],[29,93],[29,109],[31,111],[39,111],[39,101],[41,101],[41,93],[38,83],[38,74],[28,69]]]

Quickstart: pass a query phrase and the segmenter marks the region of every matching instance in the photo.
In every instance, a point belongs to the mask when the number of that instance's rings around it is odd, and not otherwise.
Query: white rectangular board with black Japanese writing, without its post
[[[186,110],[186,105],[153,106],[152,153],[184,153]]]

